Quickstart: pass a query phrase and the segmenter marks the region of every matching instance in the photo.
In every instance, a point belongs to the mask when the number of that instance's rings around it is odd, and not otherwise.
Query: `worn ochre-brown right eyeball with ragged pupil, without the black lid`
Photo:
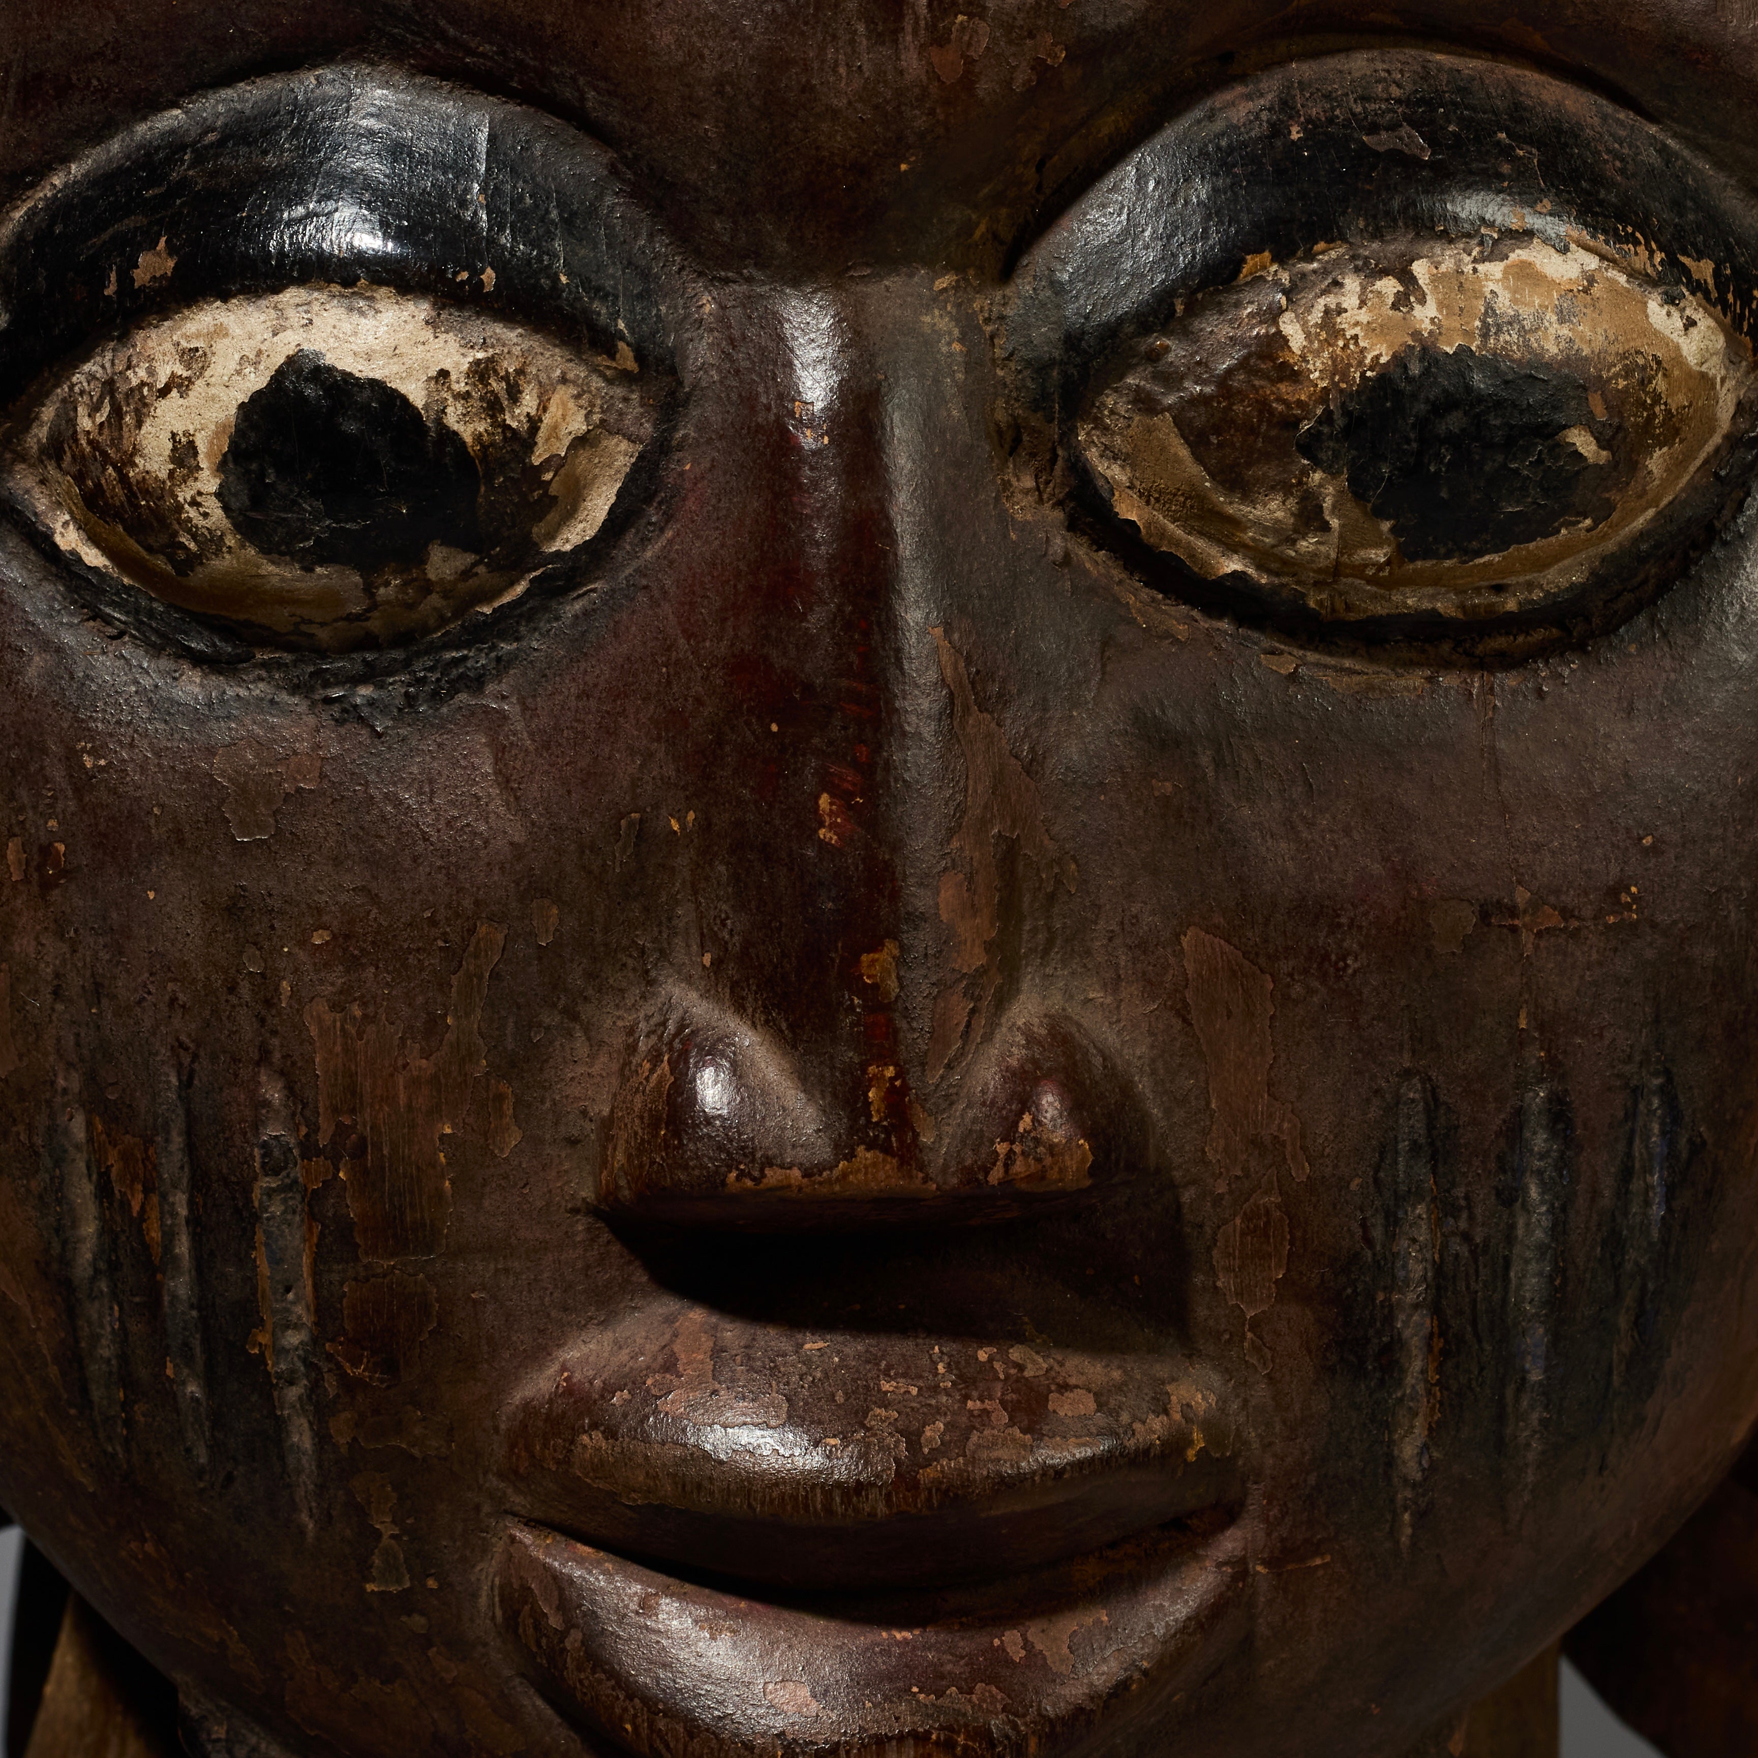
[[[1375,241],[1195,295],[1095,374],[1076,438],[1113,513],[1202,580],[1333,621],[1486,619],[1573,599],[1753,387],[1719,311],[1586,248]]]

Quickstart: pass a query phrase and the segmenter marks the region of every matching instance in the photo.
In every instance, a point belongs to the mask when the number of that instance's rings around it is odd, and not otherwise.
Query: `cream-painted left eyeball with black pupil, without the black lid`
[[[311,285],[102,343],[4,469],[88,566],[260,645],[353,652],[519,596],[598,533],[652,434],[628,345]]]

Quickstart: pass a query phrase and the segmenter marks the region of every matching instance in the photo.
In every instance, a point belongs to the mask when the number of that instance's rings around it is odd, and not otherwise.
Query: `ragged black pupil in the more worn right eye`
[[[1570,427],[1616,443],[1566,369],[1410,346],[1310,420],[1296,447],[1347,473],[1406,561],[1470,561],[1612,515],[1614,471],[1563,440]]]

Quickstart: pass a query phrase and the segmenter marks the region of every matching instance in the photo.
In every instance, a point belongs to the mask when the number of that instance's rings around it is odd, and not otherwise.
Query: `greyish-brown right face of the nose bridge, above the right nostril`
[[[909,280],[886,304],[883,336],[884,810],[902,900],[898,1028],[918,1109],[932,1118],[953,1106],[1016,997],[1030,956],[1025,904],[1072,863],[1044,830],[1037,782],[1000,717],[1030,680],[993,670],[1011,652],[993,624],[1018,608],[1021,563],[995,478],[988,341],[969,288]]]

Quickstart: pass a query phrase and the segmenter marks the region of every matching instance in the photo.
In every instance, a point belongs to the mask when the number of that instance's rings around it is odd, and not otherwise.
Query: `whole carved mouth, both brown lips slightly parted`
[[[1243,1631],[1239,1440],[1231,1387],[1159,1350],[663,1297],[515,1401],[496,1617],[642,1754],[1160,1740]]]

